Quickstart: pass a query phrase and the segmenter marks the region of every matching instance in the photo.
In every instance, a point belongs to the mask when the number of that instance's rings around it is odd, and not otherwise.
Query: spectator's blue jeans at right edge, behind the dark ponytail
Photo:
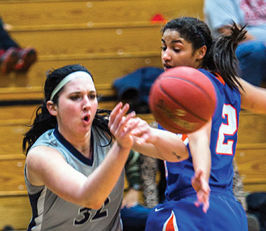
[[[266,80],[266,47],[263,42],[250,40],[239,44],[236,50],[240,77],[260,86]]]

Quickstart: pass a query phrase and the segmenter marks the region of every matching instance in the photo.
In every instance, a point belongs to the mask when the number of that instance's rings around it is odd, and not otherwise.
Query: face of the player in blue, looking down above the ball
[[[178,31],[167,29],[162,36],[162,65],[164,69],[177,66],[198,68],[200,60],[193,52],[192,44],[179,35]]]

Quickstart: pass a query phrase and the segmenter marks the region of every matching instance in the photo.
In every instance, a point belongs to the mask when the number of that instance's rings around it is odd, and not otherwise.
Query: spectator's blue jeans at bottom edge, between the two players
[[[151,209],[137,204],[131,208],[121,209],[121,218],[123,221],[123,230],[125,231],[144,231],[146,221]]]

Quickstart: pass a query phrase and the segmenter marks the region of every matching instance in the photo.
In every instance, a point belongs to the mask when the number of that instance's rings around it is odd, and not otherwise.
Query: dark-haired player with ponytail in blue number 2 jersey
[[[211,120],[187,137],[151,128],[141,119],[132,131],[133,149],[165,160],[167,174],[167,202],[151,211],[146,231],[248,230],[246,213],[232,193],[232,161],[239,112],[244,108],[266,114],[266,90],[237,75],[235,49],[245,33],[232,24],[230,36],[213,40],[207,24],[193,17],[177,18],[165,25],[165,70],[190,66],[202,71],[214,84],[217,105]],[[120,108],[113,110],[110,121]]]

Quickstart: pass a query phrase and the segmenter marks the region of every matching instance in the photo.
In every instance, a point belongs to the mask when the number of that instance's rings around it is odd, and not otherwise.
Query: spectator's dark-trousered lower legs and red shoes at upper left
[[[0,18],[0,72],[2,74],[8,74],[11,71],[27,73],[36,59],[36,50],[32,47],[20,47],[10,37]]]

